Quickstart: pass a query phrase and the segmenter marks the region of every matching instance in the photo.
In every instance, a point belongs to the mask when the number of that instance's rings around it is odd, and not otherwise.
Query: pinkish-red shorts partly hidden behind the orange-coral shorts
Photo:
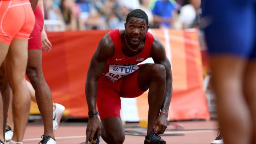
[[[38,5],[34,10],[34,15],[36,18],[36,23],[28,38],[28,50],[42,50],[41,33],[44,27],[44,16]]]

